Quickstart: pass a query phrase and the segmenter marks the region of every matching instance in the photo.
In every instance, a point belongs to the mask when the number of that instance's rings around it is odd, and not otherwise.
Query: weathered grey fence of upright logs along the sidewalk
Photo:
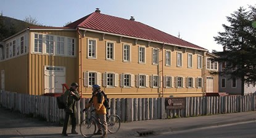
[[[80,99],[76,107],[77,124],[86,117],[81,112],[88,99]],[[33,117],[44,118],[49,122],[60,123],[65,112],[58,109],[55,97],[34,96],[9,91],[0,92],[0,105]],[[110,99],[109,114],[119,115],[123,122],[156,120],[180,117],[216,115],[220,113],[249,112],[255,110],[255,94],[246,96],[188,97],[184,109],[165,109],[165,98],[117,98]]]

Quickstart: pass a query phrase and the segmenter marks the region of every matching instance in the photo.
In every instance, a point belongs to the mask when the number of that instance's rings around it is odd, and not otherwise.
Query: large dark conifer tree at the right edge
[[[217,61],[226,63],[221,75],[241,79],[242,84],[256,81],[256,9],[240,7],[231,17],[226,17],[230,25],[222,25],[225,32],[213,37],[217,44],[223,45],[223,52]]]

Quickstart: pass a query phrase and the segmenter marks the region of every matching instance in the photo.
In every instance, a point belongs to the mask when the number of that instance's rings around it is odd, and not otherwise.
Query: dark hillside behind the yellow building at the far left
[[[29,23],[26,23],[22,20],[17,20],[15,18],[10,17],[0,17],[0,41],[10,37],[16,33],[19,33],[23,29],[28,28],[28,26],[35,26]]]

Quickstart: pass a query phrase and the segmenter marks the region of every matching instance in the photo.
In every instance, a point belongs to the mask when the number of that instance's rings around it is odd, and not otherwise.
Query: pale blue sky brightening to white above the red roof
[[[222,51],[213,39],[229,25],[239,7],[256,6],[256,0],[0,0],[3,16],[33,17],[46,26],[62,27],[94,12],[139,21],[192,44]]]

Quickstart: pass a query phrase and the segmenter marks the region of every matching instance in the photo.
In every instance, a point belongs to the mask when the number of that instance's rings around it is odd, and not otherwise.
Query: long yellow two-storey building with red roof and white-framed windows
[[[110,98],[204,96],[218,92],[218,63],[205,48],[138,21],[95,12],[62,28],[30,27],[0,44],[1,89],[42,95],[78,82]]]

